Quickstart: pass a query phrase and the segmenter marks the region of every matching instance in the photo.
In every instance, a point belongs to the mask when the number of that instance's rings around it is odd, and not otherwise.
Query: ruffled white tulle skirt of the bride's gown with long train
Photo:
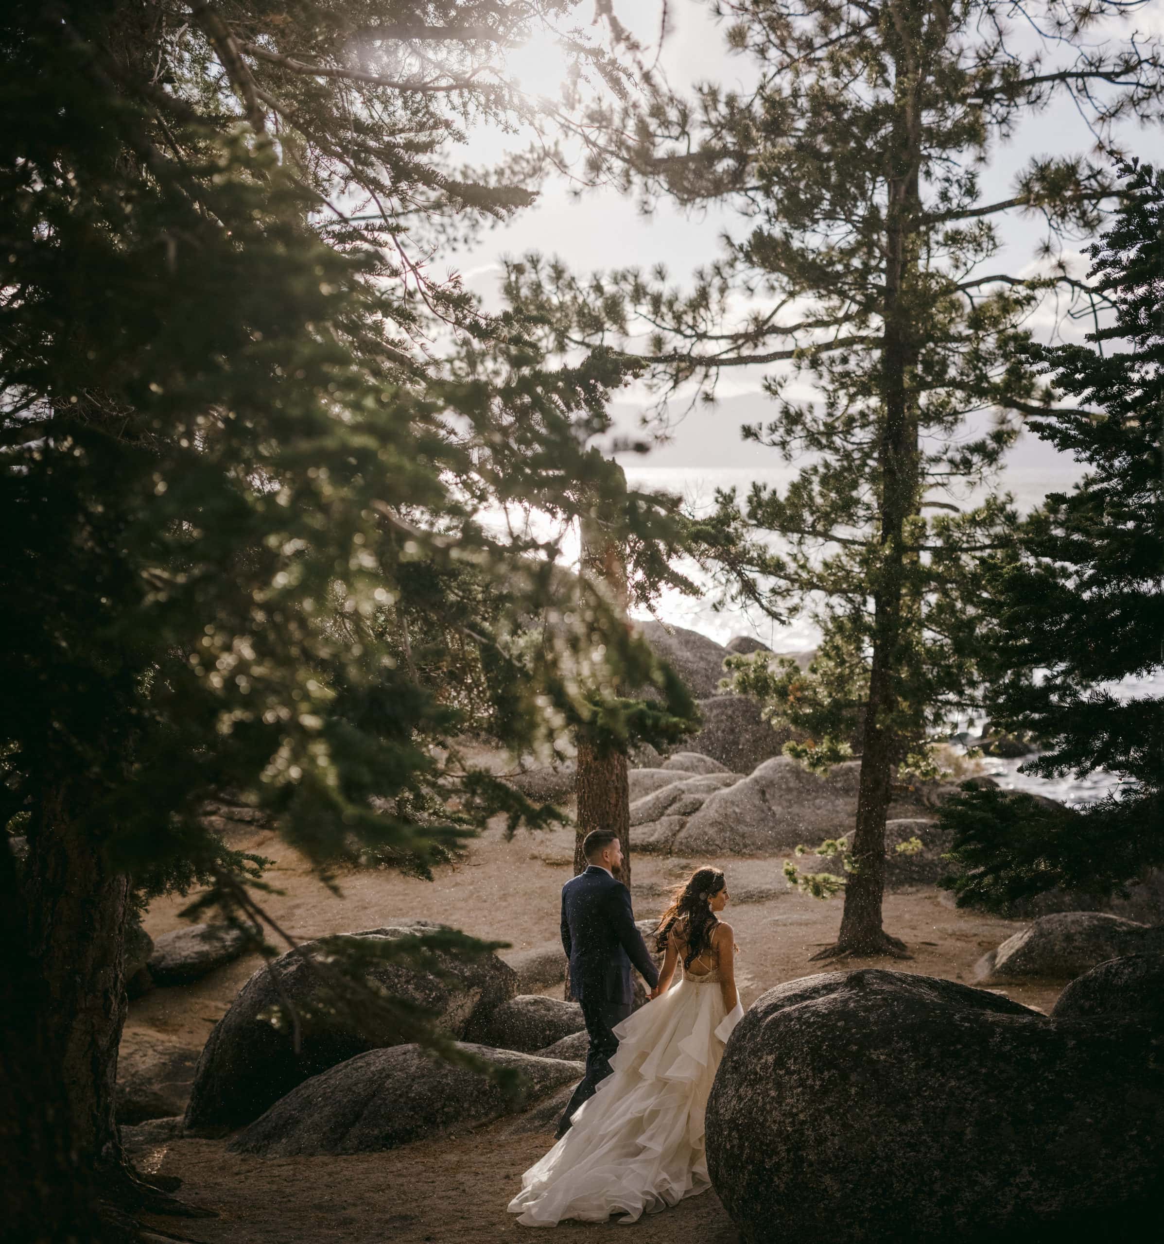
[[[573,1126],[521,1178],[511,1214],[526,1227],[563,1218],[635,1222],[706,1192],[704,1113],[724,1042],[744,1010],[719,984],[680,980],[614,1029],[613,1074]]]

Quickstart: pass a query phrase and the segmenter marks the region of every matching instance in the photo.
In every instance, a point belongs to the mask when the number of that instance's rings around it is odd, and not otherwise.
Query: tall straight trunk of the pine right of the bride
[[[894,0],[890,16],[898,36],[894,49],[897,116],[894,160],[885,214],[885,289],[883,302],[880,399],[883,420],[878,444],[880,470],[880,532],[873,583],[873,654],[869,699],[862,731],[861,782],[853,830],[851,873],[844,911],[834,945],[813,959],[846,954],[889,954],[909,958],[904,942],[882,927],[885,891],[885,814],[892,799],[893,766],[900,760],[903,738],[895,718],[902,677],[900,637],[905,608],[905,527],[918,513],[918,417],[910,372],[918,358],[918,337],[910,297],[917,289],[918,253],[914,230],[920,211],[922,117],[919,86],[920,29],[925,14],[905,0]],[[949,15],[946,15],[946,24]]]

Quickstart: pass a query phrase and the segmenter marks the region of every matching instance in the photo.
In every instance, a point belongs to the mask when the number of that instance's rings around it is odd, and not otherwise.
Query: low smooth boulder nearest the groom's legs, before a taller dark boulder
[[[459,1049],[494,1067],[517,1072],[514,1091],[507,1093],[489,1076],[444,1062],[418,1045],[369,1050],[289,1092],[230,1149],[262,1157],[379,1153],[515,1113],[582,1079],[580,1062],[481,1045]]]

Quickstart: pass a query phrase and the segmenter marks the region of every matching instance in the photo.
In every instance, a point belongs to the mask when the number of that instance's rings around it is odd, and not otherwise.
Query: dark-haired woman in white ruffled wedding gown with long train
[[[704,1111],[724,1042],[744,1014],[731,926],[719,918],[726,903],[719,868],[698,868],[675,891],[655,931],[667,955],[652,994],[658,1000],[614,1029],[612,1075],[522,1176],[509,1205],[519,1223],[553,1227],[563,1218],[606,1222],[611,1214],[634,1222],[711,1186]]]

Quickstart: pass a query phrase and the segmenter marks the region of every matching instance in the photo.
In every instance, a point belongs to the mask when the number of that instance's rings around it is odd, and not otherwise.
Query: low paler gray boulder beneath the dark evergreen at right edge
[[[1069,980],[1106,959],[1157,949],[1164,949],[1164,928],[1104,912],[1060,912],[1041,916],[984,954],[974,973],[982,982]]]

